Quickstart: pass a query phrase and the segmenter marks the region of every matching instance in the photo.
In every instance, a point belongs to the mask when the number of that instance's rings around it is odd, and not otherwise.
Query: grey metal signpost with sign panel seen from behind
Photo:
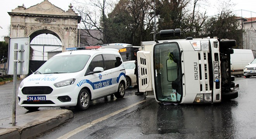
[[[13,75],[12,125],[16,125],[17,74],[27,75],[29,69],[30,38],[10,38],[7,74]]]

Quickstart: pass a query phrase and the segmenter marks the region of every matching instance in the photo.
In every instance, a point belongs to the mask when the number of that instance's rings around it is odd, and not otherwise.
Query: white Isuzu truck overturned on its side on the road
[[[160,37],[180,36],[180,29]],[[140,92],[163,103],[218,103],[238,97],[230,74],[235,40],[187,37],[142,42],[138,51]]]

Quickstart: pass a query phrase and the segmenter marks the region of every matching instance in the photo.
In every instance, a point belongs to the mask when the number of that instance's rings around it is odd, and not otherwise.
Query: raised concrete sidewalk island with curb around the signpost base
[[[28,139],[57,127],[73,118],[71,110],[43,110],[0,120],[0,139]]]

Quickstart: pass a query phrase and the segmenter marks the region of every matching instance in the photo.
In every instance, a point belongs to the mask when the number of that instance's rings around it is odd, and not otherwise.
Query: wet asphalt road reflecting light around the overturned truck
[[[235,78],[234,82],[239,84],[238,98],[208,105],[159,105],[154,99],[145,100],[144,96],[134,95],[136,88],[129,88],[125,98],[109,96],[93,101],[88,110],[83,112],[73,110],[73,119],[37,138],[256,138],[256,77]],[[2,100],[3,96],[1,105]],[[20,114],[19,109],[17,113]]]

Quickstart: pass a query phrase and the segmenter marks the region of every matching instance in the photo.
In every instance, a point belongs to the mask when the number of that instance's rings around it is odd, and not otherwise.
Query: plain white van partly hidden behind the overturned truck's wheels
[[[253,61],[253,51],[251,49],[233,49],[230,54],[231,75],[240,76],[244,74],[244,67]]]

